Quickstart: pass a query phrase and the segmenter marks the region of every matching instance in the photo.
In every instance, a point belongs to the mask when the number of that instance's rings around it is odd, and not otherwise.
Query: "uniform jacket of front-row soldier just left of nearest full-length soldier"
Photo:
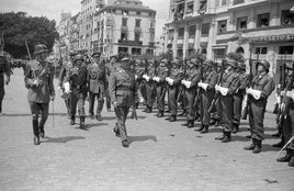
[[[224,72],[220,87],[228,88],[228,94],[233,94],[239,87],[239,81],[238,75],[234,70],[230,70]]]

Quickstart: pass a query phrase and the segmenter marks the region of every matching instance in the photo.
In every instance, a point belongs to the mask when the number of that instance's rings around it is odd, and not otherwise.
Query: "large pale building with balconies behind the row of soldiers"
[[[294,59],[293,5],[293,0],[171,0],[165,50],[178,58],[201,52],[215,61],[241,53],[247,60],[269,60],[279,72],[281,63]]]

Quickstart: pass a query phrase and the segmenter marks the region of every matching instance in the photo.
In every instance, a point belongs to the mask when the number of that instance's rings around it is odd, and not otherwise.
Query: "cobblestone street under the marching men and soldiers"
[[[56,81],[55,81],[56,82]],[[248,123],[233,142],[188,130],[178,122],[158,119],[155,112],[138,110],[138,121],[127,120],[129,148],[123,148],[112,128],[114,112],[103,110],[103,121],[86,119],[88,131],[69,125],[64,101],[58,92],[50,103],[45,138],[33,144],[32,121],[26,101],[23,71],[15,69],[5,87],[0,116],[0,190],[276,190],[292,191],[294,168],[275,161],[274,115],[265,114],[262,153],[244,150],[250,142]],[[88,102],[87,102],[88,104]],[[272,104],[272,103],[269,103]],[[87,106],[88,108],[88,106]],[[86,110],[88,111],[88,110]],[[199,123],[196,123],[199,127]],[[281,156],[284,155],[284,151]]]

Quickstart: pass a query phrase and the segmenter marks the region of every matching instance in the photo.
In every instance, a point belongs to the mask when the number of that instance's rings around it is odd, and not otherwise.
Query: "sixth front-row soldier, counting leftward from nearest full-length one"
[[[165,97],[167,91],[167,82],[166,78],[168,76],[168,67],[167,67],[168,60],[162,59],[159,64],[159,67],[157,68],[157,76],[154,78],[156,81],[156,97],[157,97],[157,109],[158,117],[162,117],[165,113]]]

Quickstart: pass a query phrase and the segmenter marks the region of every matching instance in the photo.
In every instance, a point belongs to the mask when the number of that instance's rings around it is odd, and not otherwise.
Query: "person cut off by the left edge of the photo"
[[[0,115],[2,113],[2,101],[5,94],[4,85],[10,82],[11,70],[8,64],[8,60],[3,53],[0,53]]]

